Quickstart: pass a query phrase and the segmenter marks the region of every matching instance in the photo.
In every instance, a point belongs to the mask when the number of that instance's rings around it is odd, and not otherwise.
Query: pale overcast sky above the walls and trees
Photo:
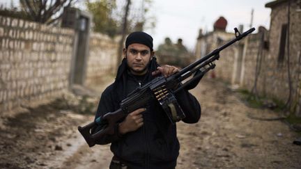
[[[132,1],[137,3],[137,0]],[[254,9],[252,26],[256,29],[258,26],[269,29],[270,8],[265,8],[265,3],[270,1],[272,0],[153,0],[149,15],[155,16],[156,26],[155,29],[145,31],[153,36],[154,49],[168,37],[174,43],[182,38],[183,45],[193,51],[199,29],[203,29],[203,32],[213,31],[213,24],[220,16],[228,21],[226,31],[234,32],[233,29],[240,24],[247,31],[251,23],[251,11]],[[10,6],[10,0],[0,0],[0,4]]]

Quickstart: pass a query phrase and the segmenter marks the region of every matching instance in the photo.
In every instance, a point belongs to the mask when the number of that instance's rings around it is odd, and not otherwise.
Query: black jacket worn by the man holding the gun
[[[127,71],[124,59],[118,68],[116,80],[102,93],[95,118],[120,108],[120,102],[139,86],[139,82],[144,85],[154,78],[151,72],[155,71],[157,66],[153,58],[144,80],[137,81],[137,78]],[[183,122],[198,122],[201,117],[201,106],[196,98],[187,90],[176,93],[176,98],[186,115]],[[176,124],[169,122],[167,115],[156,101],[146,106],[143,118],[144,125],[141,128],[125,135],[118,133],[118,124],[116,124],[115,134],[103,137],[98,140],[98,144],[111,143],[111,152],[114,156],[122,159],[130,168],[175,168],[180,149]]]

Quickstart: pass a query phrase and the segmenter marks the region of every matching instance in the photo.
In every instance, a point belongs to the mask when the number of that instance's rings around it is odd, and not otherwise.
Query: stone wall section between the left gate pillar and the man
[[[103,76],[116,72],[116,56],[118,38],[111,39],[107,35],[91,33],[89,42],[86,85],[100,82]]]

